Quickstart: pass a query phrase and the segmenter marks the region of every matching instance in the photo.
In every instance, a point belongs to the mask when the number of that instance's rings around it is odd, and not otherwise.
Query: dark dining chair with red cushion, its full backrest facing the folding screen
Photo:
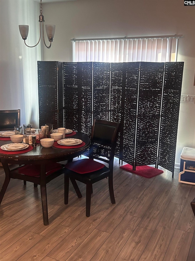
[[[111,203],[115,204],[113,162],[119,125],[117,122],[95,119],[91,130],[89,158],[68,162],[65,165],[64,203],[68,204],[69,178],[79,198],[82,197],[82,194],[76,181],[86,184],[87,217],[90,216],[91,193],[93,193],[92,185],[97,181],[108,178]],[[108,163],[108,167],[99,161]]]

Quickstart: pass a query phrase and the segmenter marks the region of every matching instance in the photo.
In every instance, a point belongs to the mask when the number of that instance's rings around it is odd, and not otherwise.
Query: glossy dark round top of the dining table
[[[68,137],[67,137],[68,138]],[[3,154],[0,153],[0,160],[6,163],[15,163],[15,164],[33,164],[36,161],[36,164],[40,162],[58,162],[63,160],[68,160],[71,158],[75,158],[81,155],[87,148],[90,146],[90,138],[86,134],[82,132],[76,132],[76,134],[69,138],[76,138],[83,140],[85,145],[80,148],[56,148],[56,147],[49,147],[45,148],[42,147],[41,144],[36,144],[37,146],[33,146],[33,150],[21,153],[21,154]],[[0,140],[0,146],[4,144],[12,143],[11,140]]]

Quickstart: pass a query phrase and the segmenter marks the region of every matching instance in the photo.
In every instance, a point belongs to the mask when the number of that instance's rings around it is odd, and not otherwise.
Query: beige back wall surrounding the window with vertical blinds
[[[44,4],[56,24],[52,50],[44,60],[72,61],[73,38],[181,34],[178,61],[184,62],[182,94],[195,95],[195,7],[183,0],[77,0]],[[48,18],[49,17],[49,18]],[[183,147],[195,147],[195,104],[180,104],[176,163]]]

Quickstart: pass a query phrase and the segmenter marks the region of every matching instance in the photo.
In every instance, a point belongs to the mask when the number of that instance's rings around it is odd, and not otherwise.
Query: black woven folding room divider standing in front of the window
[[[59,62],[49,63],[55,68]],[[133,169],[160,165],[173,173],[183,65],[183,62],[63,62],[62,95],[59,88],[62,74],[58,72],[54,77],[51,65],[38,62],[39,101],[41,104],[55,101],[61,108],[63,99],[64,118],[63,123],[58,120],[58,125],[88,135],[94,118],[121,122],[116,157]],[[56,83],[58,96],[56,87],[55,91],[51,88]],[[45,95],[42,90],[46,85]],[[47,111],[41,106],[40,123]],[[48,118],[48,122],[53,120],[56,122],[56,117]]]

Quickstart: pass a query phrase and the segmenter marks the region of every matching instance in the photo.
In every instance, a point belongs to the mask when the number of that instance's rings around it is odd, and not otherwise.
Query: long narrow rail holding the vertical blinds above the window
[[[126,39],[159,39],[159,38],[180,38],[183,35],[153,35],[153,36],[136,36],[136,37],[113,37],[113,38],[90,38],[90,39],[71,39],[72,42],[76,41],[98,41],[98,40],[126,40]]]

